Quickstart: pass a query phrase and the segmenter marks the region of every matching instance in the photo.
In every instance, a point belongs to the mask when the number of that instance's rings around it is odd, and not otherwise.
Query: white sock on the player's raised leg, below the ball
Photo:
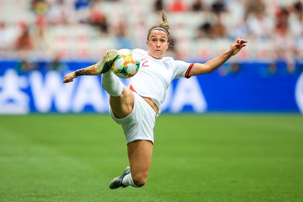
[[[102,74],[102,86],[110,95],[114,97],[118,97],[121,95],[124,84],[120,81],[119,77],[117,77],[112,71],[108,71]]]

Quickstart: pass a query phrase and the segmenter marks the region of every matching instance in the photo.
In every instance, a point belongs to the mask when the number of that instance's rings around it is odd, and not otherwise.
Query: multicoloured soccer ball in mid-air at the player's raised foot
[[[140,58],[131,49],[120,49],[112,64],[112,70],[120,78],[134,76],[140,66]]]

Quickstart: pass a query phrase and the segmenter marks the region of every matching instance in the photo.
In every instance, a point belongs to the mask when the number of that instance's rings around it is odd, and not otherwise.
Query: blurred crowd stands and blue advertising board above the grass
[[[63,86],[63,75],[107,49],[146,49],[161,9],[175,59],[205,62],[248,41],[213,74],[174,81],[164,112],[303,112],[301,1],[1,0],[0,113],[107,113],[99,77]]]

